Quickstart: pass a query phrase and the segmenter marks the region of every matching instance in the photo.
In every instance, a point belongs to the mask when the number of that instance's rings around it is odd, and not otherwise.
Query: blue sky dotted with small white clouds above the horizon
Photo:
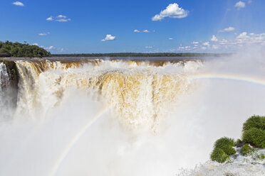
[[[264,0],[1,0],[0,40],[51,53],[234,52],[265,46]]]

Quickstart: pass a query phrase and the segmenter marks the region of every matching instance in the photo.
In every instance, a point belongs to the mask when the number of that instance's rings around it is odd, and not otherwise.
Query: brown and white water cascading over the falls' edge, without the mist
[[[166,107],[188,92],[191,84],[187,74],[191,70],[187,67],[202,64],[185,65],[184,69],[181,64],[171,65],[175,73],[169,74],[165,67],[141,66],[136,62],[101,60],[80,65],[18,61],[16,66],[22,79],[17,113],[42,116],[47,109],[60,104],[66,89],[82,89],[110,104],[122,123],[131,126],[145,123],[155,128]]]

